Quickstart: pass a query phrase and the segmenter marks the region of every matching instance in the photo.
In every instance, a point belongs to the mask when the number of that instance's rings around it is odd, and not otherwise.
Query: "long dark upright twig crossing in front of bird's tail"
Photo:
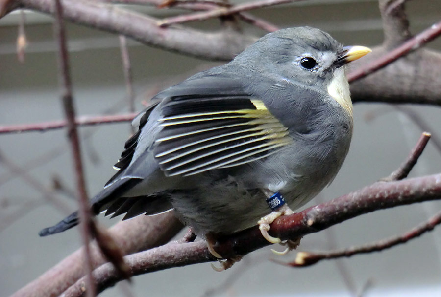
[[[58,63],[59,82],[62,92],[62,101],[67,120],[68,138],[72,147],[73,163],[75,167],[76,187],[78,191],[79,216],[81,221],[81,237],[84,245],[85,266],[86,266],[86,294],[88,297],[95,297],[96,289],[92,278],[93,262],[89,242],[91,239],[90,227],[93,224],[90,206],[87,198],[86,185],[84,181],[83,165],[81,162],[81,148],[79,144],[78,131],[75,125],[75,109],[73,107],[72,85],[69,69],[69,56],[66,48],[66,34],[63,22],[63,7],[60,0],[55,0],[55,38],[58,42]]]

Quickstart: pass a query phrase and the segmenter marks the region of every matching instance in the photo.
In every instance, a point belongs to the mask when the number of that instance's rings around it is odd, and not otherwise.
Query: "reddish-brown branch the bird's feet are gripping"
[[[316,233],[345,220],[368,212],[416,202],[440,199],[441,174],[417,177],[395,182],[377,182],[329,202],[289,216],[279,217],[271,224],[270,234],[281,239],[297,238]],[[224,257],[246,255],[270,243],[262,237],[258,227],[247,229],[226,238],[220,238],[215,249]],[[145,252],[128,255],[126,263],[133,275],[145,274],[172,267],[216,261],[204,241],[169,243]],[[114,285],[121,276],[110,264],[104,264],[93,273],[98,291]],[[83,296],[79,279],[65,297]]]

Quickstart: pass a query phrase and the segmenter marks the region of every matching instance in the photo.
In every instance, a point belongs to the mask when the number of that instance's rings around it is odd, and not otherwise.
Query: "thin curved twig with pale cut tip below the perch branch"
[[[394,236],[391,238],[376,241],[360,247],[351,247],[349,249],[327,252],[327,253],[310,253],[310,252],[299,252],[293,262],[282,263],[294,267],[306,267],[315,264],[323,259],[336,259],[340,257],[350,257],[357,254],[368,254],[372,252],[380,252],[398,244],[403,244],[411,239],[417,238],[418,236],[432,231],[437,225],[441,223],[441,212],[431,217],[427,222],[424,222],[420,226],[410,230],[399,236]]]

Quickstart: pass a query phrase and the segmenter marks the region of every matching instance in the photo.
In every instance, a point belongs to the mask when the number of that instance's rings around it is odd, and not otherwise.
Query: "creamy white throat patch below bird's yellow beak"
[[[328,85],[328,93],[350,116],[352,116],[352,101],[349,91],[349,83],[347,82],[343,68],[335,70],[334,78]]]

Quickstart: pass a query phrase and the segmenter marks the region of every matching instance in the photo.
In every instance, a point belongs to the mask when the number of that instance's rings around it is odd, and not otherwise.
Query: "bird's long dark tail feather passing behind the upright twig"
[[[98,193],[97,196],[95,196],[91,200],[92,214],[97,215],[99,212],[102,211],[102,207],[112,202],[112,200],[120,197],[120,195],[122,195],[127,190],[133,188],[140,181],[142,181],[142,179],[137,179],[137,178],[120,179],[114,182],[113,184],[109,185],[108,187],[104,188],[102,191]],[[65,217],[58,224],[45,228],[41,230],[38,234],[40,236],[48,236],[66,231],[68,229],[71,229],[72,227],[75,227],[78,224],[79,224],[78,212],[73,212],[69,216]]]

